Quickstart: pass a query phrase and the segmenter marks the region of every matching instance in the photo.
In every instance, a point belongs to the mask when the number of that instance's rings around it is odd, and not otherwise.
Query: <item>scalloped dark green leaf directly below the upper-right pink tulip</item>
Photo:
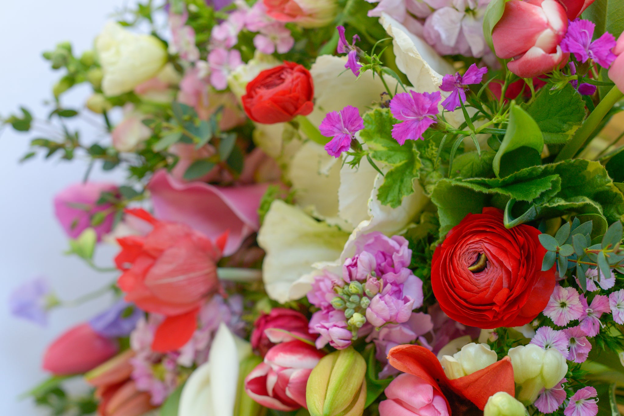
[[[546,144],[567,143],[585,119],[585,102],[570,84],[556,92],[540,89],[526,110],[542,130]]]

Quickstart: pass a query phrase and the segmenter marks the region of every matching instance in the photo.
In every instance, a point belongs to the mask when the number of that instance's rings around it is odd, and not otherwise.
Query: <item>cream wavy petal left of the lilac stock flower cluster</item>
[[[305,296],[310,284],[293,286],[313,271],[312,264],[340,256],[348,234],[306,215],[296,206],[276,200],[258,231],[258,244],[266,251],[262,274],[266,293],[284,303]]]

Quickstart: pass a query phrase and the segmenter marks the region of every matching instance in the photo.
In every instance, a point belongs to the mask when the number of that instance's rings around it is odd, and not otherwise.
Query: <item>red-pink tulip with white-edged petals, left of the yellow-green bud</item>
[[[324,352],[301,341],[272,347],[245,378],[245,391],[259,404],[270,409],[290,410],[306,405],[306,384],[312,369]]]

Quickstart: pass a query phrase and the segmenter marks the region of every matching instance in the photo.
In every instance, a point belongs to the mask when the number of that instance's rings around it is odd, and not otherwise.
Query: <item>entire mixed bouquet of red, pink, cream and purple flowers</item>
[[[117,271],[80,300],[116,300],[28,394],[53,415],[619,415],[623,29],[620,0],[150,0],[92,51],[58,44],[49,123],[2,122],[37,134],[24,160],[88,161],[54,208],[67,253]],[[38,279],[10,307],[72,304]]]

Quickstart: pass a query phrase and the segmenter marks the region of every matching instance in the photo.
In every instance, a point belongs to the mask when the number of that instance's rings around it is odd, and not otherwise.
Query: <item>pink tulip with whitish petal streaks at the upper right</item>
[[[559,46],[568,29],[565,10],[555,0],[511,0],[494,26],[496,56],[510,59],[507,67],[522,78],[532,78],[565,65],[569,54]]]

